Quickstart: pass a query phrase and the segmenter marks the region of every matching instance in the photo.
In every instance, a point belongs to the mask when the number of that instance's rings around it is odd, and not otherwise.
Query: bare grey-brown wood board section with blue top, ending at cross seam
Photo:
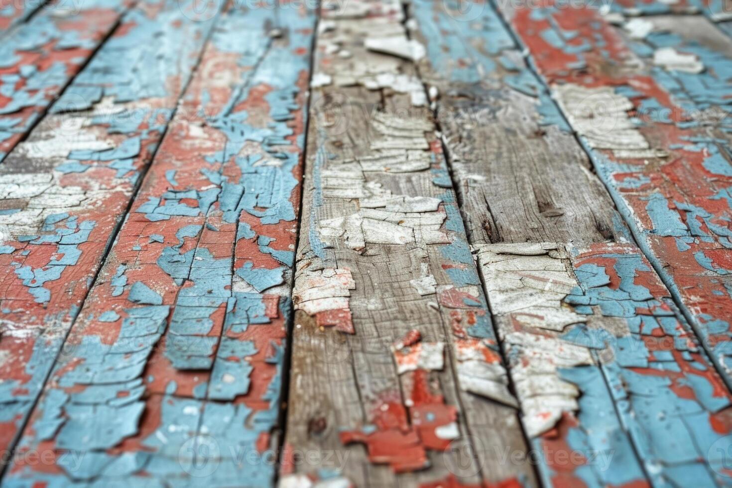
[[[473,9],[414,7],[471,244],[613,239],[619,216],[583,149],[493,8]]]

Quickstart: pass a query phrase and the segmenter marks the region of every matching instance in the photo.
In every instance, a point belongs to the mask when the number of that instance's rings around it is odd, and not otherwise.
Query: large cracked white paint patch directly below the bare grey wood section
[[[588,348],[560,338],[586,321],[563,303],[579,283],[560,244],[486,244],[478,260],[498,334],[531,437],[552,429],[564,412],[578,410],[580,392],[559,368],[594,364]]]

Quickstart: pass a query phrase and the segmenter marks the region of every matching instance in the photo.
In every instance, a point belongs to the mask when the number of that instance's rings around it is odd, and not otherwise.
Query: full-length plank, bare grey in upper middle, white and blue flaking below
[[[501,18],[459,7],[414,2],[420,71],[543,481],[728,482],[722,379]]]

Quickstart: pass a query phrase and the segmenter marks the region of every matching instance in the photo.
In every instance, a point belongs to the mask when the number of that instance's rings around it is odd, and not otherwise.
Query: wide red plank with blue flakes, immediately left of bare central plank
[[[273,484],[314,27],[217,23],[6,484]]]

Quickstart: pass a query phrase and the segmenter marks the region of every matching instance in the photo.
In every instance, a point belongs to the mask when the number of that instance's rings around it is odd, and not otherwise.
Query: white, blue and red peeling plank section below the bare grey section
[[[706,453],[728,435],[718,427],[731,397],[638,248],[496,244],[479,249],[479,263],[496,303],[523,424],[545,453],[542,470],[553,484],[561,483],[553,452],[562,443],[589,443],[594,455],[616,453],[610,466],[617,463],[617,470],[593,465],[563,475],[586,484],[630,483],[644,478],[643,471],[655,484],[680,479],[676,470],[716,469]],[[557,318],[544,307],[577,319]],[[522,320],[524,314],[540,321]],[[616,410],[616,402],[624,407]],[[671,412],[698,409],[705,412],[700,424],[679,417],[672,427]],[[613,438],[612,445],[593,438],[596,432]],[[673,440],[661,440],[661,432],[673,432]]]

